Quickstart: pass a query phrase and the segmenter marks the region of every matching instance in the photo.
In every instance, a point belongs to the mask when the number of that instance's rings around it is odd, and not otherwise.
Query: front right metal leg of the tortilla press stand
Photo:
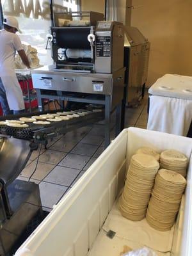
[[[105,148],[110,144],[110,116],[111,116],[111,97],[105,97]]]

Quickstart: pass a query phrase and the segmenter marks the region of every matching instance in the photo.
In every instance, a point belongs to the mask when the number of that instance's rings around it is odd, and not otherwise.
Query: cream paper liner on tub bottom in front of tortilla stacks
[[[150,227],[145,219],[141,221],[127,220],[118,210],[118,201],[113,205],[103,229],[106,232],[113,230],[116,232],[116,236],[120,238],[139,243],[141,246],[147,246],[159,252],[169,252],[172,249],[174,227],[170,231],[161,232]]]

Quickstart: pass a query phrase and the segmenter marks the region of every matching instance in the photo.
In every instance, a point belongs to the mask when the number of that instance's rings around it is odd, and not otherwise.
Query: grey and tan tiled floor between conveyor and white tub
[[[115,115],[112,116],[114,124]],[[137,108],[127,108],[125,111],[125,127],[147,126],[147,95]],[[113,127],[112,127],[113,128]],[[111,139],[115,130],[111,131]],[[19,179],[36,182],[40,186],[42,205],[46,211],[51,211],[76,181],[88,170],[90,165],[104,151],[103,122],[92,127],[82,127],[68,132],[60,138],[49,141],[48,149],[42,148],[35,170],[38,151],[33,152],[20,173]]]

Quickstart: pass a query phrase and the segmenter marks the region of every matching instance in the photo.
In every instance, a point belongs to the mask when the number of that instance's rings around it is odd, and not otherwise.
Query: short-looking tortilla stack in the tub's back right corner
[[[160,156],[160,166],[162,169],[172,170],[186,177],[188,158],[177,150],[165,150]]]

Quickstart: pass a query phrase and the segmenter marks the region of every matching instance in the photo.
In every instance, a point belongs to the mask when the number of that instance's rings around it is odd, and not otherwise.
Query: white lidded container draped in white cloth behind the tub
[[[148,130],[188,136],[192,121],[192,77],[166,74],[148,90]]]

